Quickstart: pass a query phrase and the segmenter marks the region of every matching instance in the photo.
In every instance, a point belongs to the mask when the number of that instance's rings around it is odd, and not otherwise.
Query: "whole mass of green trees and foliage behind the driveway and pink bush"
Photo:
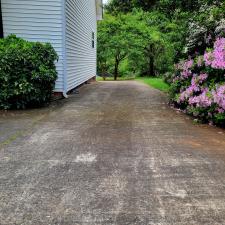
[[[216,27],[222,32],[224,5],[221,0],[111,0],[99,22],[98,72],[115,79],[173,72],[174,63],[196,47],[201,53],[212,47],[204,39],[215,37]]]

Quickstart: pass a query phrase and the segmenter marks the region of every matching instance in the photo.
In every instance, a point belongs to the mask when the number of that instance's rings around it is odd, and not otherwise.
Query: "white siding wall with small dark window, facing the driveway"
[[[96,75],[95,0],[66,0],[67,91]],[[95,48],[92,48],[92,32]]]

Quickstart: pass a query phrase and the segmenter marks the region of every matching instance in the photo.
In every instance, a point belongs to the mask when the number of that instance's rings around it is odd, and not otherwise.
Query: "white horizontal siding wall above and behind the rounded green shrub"
[[[59,55],[55,90],[63,92],[62,0],[1,0],[4,36],[49,42]]]

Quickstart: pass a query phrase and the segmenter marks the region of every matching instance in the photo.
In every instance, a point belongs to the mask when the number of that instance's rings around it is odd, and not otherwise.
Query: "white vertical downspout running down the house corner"
[[[63,36],[63,97],[67,95],[67,58],[66,58],[66,0],[62,0],[62,36]]]

